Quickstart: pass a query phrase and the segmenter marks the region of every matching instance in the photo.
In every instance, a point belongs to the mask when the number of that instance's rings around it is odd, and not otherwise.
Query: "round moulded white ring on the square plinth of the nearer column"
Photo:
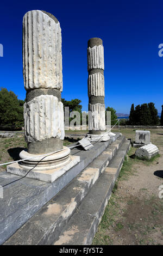
[[[22,150],[20,153],[20,159],[22,161],[19,163],[19,166],[27,170],[51,170],[54,168],[59,168],[71,161],[70,149],[64,147],[64,150],[57,153],[50,154],[48,156],[38,156],[36,154],[30,154],[27,150]],[[33,157],[29,160],[28,157]]]

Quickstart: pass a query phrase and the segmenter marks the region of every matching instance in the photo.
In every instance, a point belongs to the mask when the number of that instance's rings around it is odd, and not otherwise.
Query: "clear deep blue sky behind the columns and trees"
[[[87,111],[87,40],[104,45],[105,105],[129,113],[131,103],[163,104],[162,1],[3,1],[1,2],[0,87],[24,100],[22,20],[29,10],[46,10],[62,30],[63,92],[66,100],[82,100]]]

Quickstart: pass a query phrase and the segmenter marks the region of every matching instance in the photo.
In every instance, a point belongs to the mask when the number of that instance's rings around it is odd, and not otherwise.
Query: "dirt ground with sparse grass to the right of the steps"
[[[163,245],[163,134],[157,133],[151,131],[160,154],[154,161],[134,159],[130,149],[93,245]],[[124,134],[134,139],[133,131]]]

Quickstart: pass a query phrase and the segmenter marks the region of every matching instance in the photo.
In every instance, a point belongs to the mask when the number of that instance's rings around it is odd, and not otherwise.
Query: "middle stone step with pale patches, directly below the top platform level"
[[[96,157],[57,196],[16,231],[5,245],[51,245],[124,143],[121,136]]]

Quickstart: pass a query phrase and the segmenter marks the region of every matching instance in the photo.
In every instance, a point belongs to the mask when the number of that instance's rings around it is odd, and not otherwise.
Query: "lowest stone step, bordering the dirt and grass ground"
[[[130,142],[125,141],[54,245],[91,245],[129,148]]]

